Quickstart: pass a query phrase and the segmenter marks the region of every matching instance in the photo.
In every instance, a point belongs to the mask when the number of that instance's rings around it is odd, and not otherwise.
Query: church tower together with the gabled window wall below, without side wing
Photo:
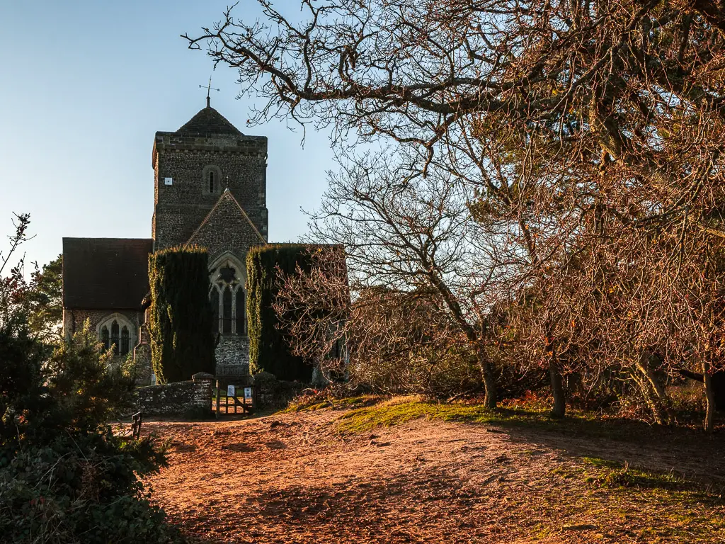
[[[267,138],[245,136],[207,107],[175,132],[157,132],[154,250],[209,251],[217,375],[249,372],[247,252],[267,243]]]

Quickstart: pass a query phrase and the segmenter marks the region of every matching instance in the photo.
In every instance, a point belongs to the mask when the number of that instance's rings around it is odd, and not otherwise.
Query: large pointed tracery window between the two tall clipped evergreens
[[[241,267],[231,259],[223,260],[218,267],[212,268],[209,300],[214,316],[212,330],[215,333],[247,334],[244,281],[239,274],[239,268]]]

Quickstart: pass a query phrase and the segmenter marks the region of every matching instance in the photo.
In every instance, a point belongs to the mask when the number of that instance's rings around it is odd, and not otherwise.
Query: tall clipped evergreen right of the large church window
[[[281,380],[309,382],[312,378],[312,366],[291,355],[272,307],[280,288],[277,269],[293,273],[298,264],[305,269],[310,258],[308,249],[304,244],[274,244],[253,247],[247,253],[247,330],[252,374],[264,370]]]

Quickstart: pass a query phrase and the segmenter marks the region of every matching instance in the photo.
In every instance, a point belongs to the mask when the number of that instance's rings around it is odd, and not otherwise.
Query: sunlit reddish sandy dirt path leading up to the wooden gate
[[[654,541],[638,519],[666,527],[667,514],[556,474],[596,453],[725,479],[701,445],[672,451],[426,419],[346,437],[334,432],[340,414],[144,424],[172,441],[170,466],[149,480],[154,500],[208,543],[634,543]]]

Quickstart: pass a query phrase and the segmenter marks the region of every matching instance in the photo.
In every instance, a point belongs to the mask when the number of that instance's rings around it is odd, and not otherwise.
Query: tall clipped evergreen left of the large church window
[[[207,250],[199,247],[171,247],[149,257],[151,358],[160,383],[215,373],[208,263]]]

